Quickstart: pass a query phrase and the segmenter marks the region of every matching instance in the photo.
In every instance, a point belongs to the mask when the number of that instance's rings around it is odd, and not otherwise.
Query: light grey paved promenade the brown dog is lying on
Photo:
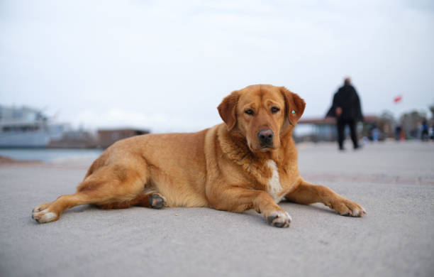
[[[434,143],[298,148],[301,175],[367,217],[282,202],[279,229],[252,211],[81,206],[37,224],[33,207],[74,192],[91,161],[1,163],[0,276],[434,276]]]

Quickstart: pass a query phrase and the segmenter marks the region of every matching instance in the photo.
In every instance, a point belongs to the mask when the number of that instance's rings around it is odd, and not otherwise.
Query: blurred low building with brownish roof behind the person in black
[[[377,123],[377,119],[377,116],[365,116],[363,123],[357,125],[357,134],[360,137],[369,136],[369,130]],[[346,129],[347,132],[349,129]],[[300,119],[294,130],[294,139],[313,142],[335,141],[337,139],[336,119],[333,117]]]

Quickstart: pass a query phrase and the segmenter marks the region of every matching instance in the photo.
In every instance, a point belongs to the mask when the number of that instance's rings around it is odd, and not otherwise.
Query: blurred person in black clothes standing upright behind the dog
[[[343,141],[345,139],[345,126],[350,126],[352,146],[357,149],[357,122],[363,120],[360,99],[354,87],[351,85],[350,78],[345,78],[344,85],[338,89],[333,97],[332,107],[326,116],[333,116],[337,119],[339,149],[344,150]]]

